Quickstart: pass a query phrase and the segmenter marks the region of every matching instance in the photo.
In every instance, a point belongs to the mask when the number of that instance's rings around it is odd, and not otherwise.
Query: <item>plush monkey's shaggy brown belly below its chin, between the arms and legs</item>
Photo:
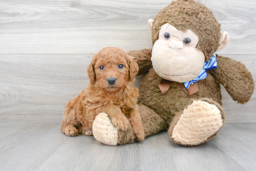
[[[188,90],[183,83],[172,82],[168,92],[162,95],[158,84],[162,80],[153,68],[144,76],[139,88],[139,104],[143,104],[153,109],[159,114],[167,124],[176,112],[184,110],[190,104],[190,99],[200,99],[203,97],[213,99],[221,104],[220,84],[207,72],[206,79],[198,81],[198,92],[188,96]]]

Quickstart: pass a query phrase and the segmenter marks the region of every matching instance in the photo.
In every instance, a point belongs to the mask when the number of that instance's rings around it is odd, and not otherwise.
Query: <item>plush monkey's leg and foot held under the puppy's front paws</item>
[[[141,115],[142,126],[144,128],[145,137],[165,131],[167,124],[152,109],[145,105],[138,105]],[[126,131],[118,130],[112,123],[108,114],[100,113],[93,123],[94,138],[107,145],[123,145],[134,143],[139,140],[129,124]]]

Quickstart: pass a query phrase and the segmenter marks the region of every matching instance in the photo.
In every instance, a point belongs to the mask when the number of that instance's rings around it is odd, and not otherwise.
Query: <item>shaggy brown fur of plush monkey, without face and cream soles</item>
[[[191,29],[196,33],[199,37],[197,48],[204,53],[205,61],[216,51],[220,37],[220,24],[212,12],[200,2],[177,0],[163,8],[156,15],[152,27],[153,45],[158,39],[160,27],[165,23],[169,23],[181,31]],[[172,131],[183,110],[196,99],[216,105],[221,111],[224,125],[225,116],[221,107],[220,84],[225,87],[232,99],[240,104],[248,102],[253,93],[254,81],[245,65],[234,59],[217,55],[217,68],[207,71],[208,77],[197,82],[198,92],[188,96],[188,90],[183,83],[173,82],[168,92],[163,95],[158,87],[162,78],[152,68],[151,52],[152,49],[142,49],[128,53],[135,57],[134,60],[139,66],[138,75],[145,75],[139,89],[138,106],[146,137],[161,131],[169,131],[171,138]],[[207,140],[215,137],[217,132]],[[119,131],[118,134],[118,144],[136,141],[129,129],[127,132]]]

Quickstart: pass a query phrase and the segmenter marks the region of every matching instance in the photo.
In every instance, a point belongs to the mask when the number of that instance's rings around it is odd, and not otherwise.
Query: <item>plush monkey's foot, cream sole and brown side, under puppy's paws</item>
[[[106,113],[100,113],[94,119],[93,134],[96,140],[106,145],[122,145],[138,140],[130,124],[126,131],[118,130]]]

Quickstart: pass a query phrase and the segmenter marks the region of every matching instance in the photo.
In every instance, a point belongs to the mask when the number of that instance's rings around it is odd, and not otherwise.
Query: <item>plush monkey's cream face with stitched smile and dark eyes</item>
[[[168,23],[162,25],[152,50],[155,72],[163,79],[175,82],[195,79],[205,60],[202,51],[196,48],[198,41],[198,36],[191,30],[182,32]]]

